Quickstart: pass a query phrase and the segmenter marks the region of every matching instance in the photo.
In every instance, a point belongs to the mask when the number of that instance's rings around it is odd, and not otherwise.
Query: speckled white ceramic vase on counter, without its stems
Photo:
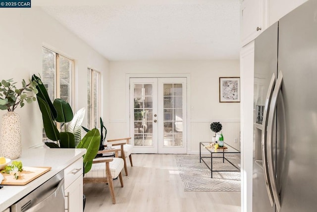
[[[7,112],[1,122],[0,156],[16,159],[21,153],[20,116],[15,112]]]

